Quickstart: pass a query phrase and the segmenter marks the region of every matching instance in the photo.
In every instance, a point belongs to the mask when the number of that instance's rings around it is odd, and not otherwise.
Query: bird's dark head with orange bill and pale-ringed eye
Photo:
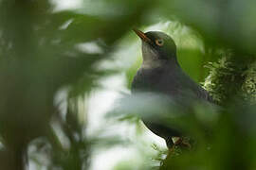
[[[176,60],[176,45],[170,36],[159,31],[149,31],[146,33],[137,29],[134,29],[134,31],[142,41],[143,61],[158,59]]]

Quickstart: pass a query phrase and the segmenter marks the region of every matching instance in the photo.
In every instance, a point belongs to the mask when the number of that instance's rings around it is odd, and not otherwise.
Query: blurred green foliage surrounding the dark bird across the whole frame
[[[119,114],[155,119],[149,110],[154,106],[162,112],[157,119],[180,127],[196,144],[166,159],[160,149],[153,160],[140,149],[143,163],[123,161],[116,169],[255,169],[255,3],[84,0],[80,8],[56,10],[53,1],[1,0],[0,168],[88,169],[95,144],[109,144],[87,138],[81,100],[86,103],[98,80],[113,73],[125,71],[129,87],[141,59],[126,70],[99,63],[113,59],[122,40],[124,53],[141,56],[128,50],[135,43],[139,52],[137,39],[125,36],[135,26],[161,23],[157,29],[174,38],[182,68],[197,82],[207,77],[204,87],[223,108],[194,103],[180,113],[168,101],[157,103],[159,96],[124,96]],[[84,42],[101,50],[81,50]]]

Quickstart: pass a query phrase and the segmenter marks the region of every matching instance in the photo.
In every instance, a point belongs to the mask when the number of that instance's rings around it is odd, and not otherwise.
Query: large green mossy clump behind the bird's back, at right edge
[[[256,102],[255,59],[238,59],[238,55],[229,50],[219,50],[215,53],[220,59],[207,65],[210,75],[204,82],[204,88],[213,100],[223,104],[236,96],[249,102]]]

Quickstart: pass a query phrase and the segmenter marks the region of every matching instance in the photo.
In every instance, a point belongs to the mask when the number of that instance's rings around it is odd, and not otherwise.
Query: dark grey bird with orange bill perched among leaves
[[[143,61],[132,81],[132,94],[153,92],[170,96],[180,103],[189,99],[213,103],[210,94],[180,67],[176,44],[169,35],[160,31],[144,33],[136,28],[134,31],[142,42]],[[142,118],[142,121],[152,132],[165,139],[168,148],[181,144],[182,132],[179,129],[154,120]],[[178,140],[174,141],[174,137]]]

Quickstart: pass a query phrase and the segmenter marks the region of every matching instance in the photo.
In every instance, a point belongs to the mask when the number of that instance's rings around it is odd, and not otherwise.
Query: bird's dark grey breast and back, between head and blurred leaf
[[[212,101],[209,93],[187,76],[172,60],[161,60],[155,68],[138,69],[132,83],[132,93],[164,93],[175,98]]]

